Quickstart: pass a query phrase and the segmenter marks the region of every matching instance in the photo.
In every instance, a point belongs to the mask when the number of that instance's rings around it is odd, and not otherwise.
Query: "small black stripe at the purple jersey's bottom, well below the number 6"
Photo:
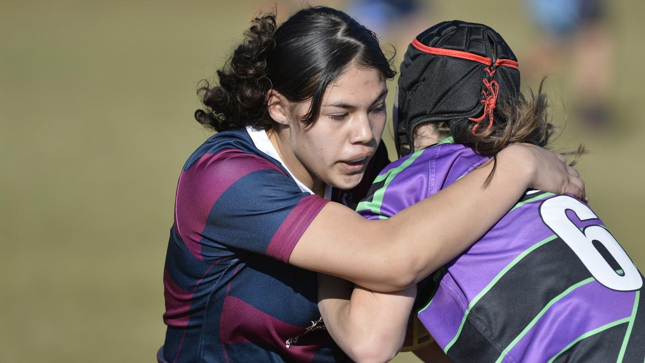
[[[615,362],[620,352],[622,338],[625,337],[627,322],[612,326],[609,329],[595,333],[581,341],[573,344],[569,349],[562,352],[553,363],[607,363]],[[623,362],[636,362],[635,360],[623,360]],[[638,361],[642,363],[641,360]]]

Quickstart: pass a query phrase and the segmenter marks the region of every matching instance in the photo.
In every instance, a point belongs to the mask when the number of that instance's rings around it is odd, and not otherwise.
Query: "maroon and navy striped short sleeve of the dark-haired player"
[[[241,150],[204,154],[177,185],[175,227],[199,260],[217,263],[247,252],[288,262],[328,202],[302,192],[271,161]]]

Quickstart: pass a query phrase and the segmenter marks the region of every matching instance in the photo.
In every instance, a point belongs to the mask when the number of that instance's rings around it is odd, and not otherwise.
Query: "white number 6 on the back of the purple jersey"
[[[639,270],[611,233],[600,225],[590,225],[581,231],[566,216],[568,210],[577,214],[582,221],[598,218],[586,205],[570,196],[555,196],[540,206],[540,214],[544,223],[571,247],[600,284],[620,291],[640,289],[643,282]],[[593,241],[604,245],[611,256],[615,258],[622,268],[622,276],[617,274],[600,255],[594,247]]]

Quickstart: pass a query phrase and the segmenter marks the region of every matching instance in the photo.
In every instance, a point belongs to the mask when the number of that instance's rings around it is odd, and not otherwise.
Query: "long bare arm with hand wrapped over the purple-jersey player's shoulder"
[[[532,145],[511,145],[499,154],[488,187],[482,185],[490,164],[388,220],[365,220],[327,203],[289,262],[375,291],[406,289],[473,244],[527,188],[584,196],[584,183],[562,159]]]

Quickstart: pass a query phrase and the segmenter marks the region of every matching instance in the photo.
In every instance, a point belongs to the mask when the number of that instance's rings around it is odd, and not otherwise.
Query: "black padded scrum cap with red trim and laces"
[[[414,129],[424,122],[461,120],[473,125],[475,136],[483,134],[493,124],[497,98],[517,98],[519,87],[517,58],[489,26],[453,20],[428,28],[401,63],[394,125],[399,155],[414,150]]]

